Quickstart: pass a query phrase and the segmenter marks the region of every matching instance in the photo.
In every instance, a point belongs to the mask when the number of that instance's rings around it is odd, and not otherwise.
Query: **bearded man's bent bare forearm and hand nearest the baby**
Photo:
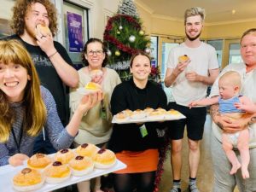
[[[195,73],[195,71],[191,71],[186,73],[186,79],[189,81],[196,81],[201,82],[202,84],[211,85],[214,83],[215,79],[218,77],[219,69],[210,69],[208,76],[203,76],[198,73]]]

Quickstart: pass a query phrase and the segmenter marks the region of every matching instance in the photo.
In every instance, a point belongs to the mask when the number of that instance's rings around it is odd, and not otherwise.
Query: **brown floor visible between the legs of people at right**
[[[201,161],[197,175],[197,186],[201,192],[212,191],[212,159],[210,151],[210,142],[212,137],[211,118],[207,115],[205,124],[204,137],[201,141]],[[186,137],[184,137],[186,138]],[[163,173],[160,183],[160,192],[169,192],[172,187],[172,168],[170,164],[170,153],[167,155],[165,162],[165,172]],[[189,165],[188,165],[188,143],[187,139],[183,139],[183,169],[182,169],[182,191],[188,191],[189,182]],[[235,190],[234,192],[238,192]]]

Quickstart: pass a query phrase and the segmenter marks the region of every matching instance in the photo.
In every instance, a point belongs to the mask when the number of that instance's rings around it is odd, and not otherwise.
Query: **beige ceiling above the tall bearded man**
[[[154,16],[183,20],[185,9],[206,9],[207,24],[255,20],[256,0],[134,0]],[[233,10],[233,13],[232,13]],[[234,13],[235,12],[235,13]]]

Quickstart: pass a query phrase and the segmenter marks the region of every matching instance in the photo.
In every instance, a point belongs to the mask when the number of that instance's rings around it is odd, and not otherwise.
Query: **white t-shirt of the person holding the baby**
[[[230,64],[227,67],[224,67],[223,71],[218,75],[218,78],[215,80],[214,84],[212,85],[212,90],[210,97],[218,96],[218,79],[224,73],[228,71],[236,71],[241,75],[241,95],[249,97],[254,103],[256,103],[256,69],[253,71],[246,73],[246,65],[244,63],[239,64]],[[232,80],[232,79],[230,79]],[[214,122],[212,122],[212,131],[214,136],[218,138],[221,142],[221,129],[218,128]],[[256,124],[250,125],[250,141],[249,146],[250,148],[256,147]]]

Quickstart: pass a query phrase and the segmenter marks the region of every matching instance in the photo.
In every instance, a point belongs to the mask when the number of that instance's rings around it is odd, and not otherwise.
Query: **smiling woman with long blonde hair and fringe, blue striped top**
[[[102,91],[84,96],[65,129],[26,49],[17,40],[0,41],[0,166],[22,165],[43,129],[57,150],[69,148],[84,113],[101,100]]]

